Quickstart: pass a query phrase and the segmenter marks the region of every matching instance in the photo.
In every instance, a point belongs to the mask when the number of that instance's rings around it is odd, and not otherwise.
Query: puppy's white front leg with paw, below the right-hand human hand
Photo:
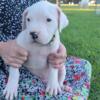
[[[58,69],[53,68],[51,64],[49,66],[46,92],[51,96],[57,95],[59,92],[61,92],[61,88],[58,82]]]

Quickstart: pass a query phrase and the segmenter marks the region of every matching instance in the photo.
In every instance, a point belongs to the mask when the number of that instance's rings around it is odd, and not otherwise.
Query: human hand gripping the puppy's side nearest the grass
[[[55,68],[61,68],[66,61],[67,53],[63,44],[60,45],[57,53],[52,53],[48,56],[48,62],[54,65]]]

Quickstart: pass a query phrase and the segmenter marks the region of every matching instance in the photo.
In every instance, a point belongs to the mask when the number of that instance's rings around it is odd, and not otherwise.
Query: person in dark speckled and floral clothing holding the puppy
[[[35,96],[35,98],[38,98],[39,100],[44,100],[44,98],[47,100],[48,98],[54,99],[55,97],[46,95],[44,92],[45,84],[42,83],[38,77],[32,75],[25,67],[21,67],[28,58],[28,52],[17,45],[14,40],[21,32],[21,20],[24,9],[38,1],[39,0],[0,1],[0,68],[2,70],[5,69],[5,73],[8,72],[9,66],[20,68],[21,82],[19,83],[18,89],[19,96]],[[88,74],[84,67],[88,66],[89,63],[75,57],[68,57],[66,60],[66,57],[66,49],[64,45],[61,44],[57,53],[48,56],[48,63],[53,64],[55,68],[58,69],[62,67],[62,63],[65,63],[67,71],[65,84],[71,86],[74,92],[76,90],[81,91],[83,84],[90,84],[90,79],[88,78]],[[0,70],[1,96],[7,79],[7,75],[2,70]],[[80,75],[82,73],[84,73],[83,76]],[[89,89],[87,89],[87,94],[88,92]],[[59,94],[57,100],[63,100],[63,97],[73,98],[73,93],[69,92],[69,94],[67,94],[67,92],[64,92],[63,94]],[[86,96],[83,96],[83,98],[85,97]]]

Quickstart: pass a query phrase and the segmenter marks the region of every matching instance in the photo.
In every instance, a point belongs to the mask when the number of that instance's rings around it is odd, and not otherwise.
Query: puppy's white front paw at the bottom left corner
[[[6,100],[13,100],[17,97],[18,83],[15,80],[8,81],[6,88],[3,91],[3,95]]]

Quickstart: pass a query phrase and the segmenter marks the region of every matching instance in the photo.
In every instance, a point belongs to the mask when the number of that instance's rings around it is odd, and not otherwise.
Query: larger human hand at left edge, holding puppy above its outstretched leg
[[[0,56],[3,58],[5,64],[12,67],[21,67],[27,60],[28,52],[17,45],[15,40],[1,42],[0,46]]]

